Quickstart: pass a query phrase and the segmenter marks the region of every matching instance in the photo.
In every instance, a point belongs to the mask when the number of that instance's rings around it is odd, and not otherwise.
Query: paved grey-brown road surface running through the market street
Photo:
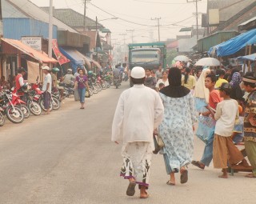
[[[256,179],[219,170],[189,169],[189,182],[167,186],[161,155],[151,166],[150,198],[126,196],[119,178],[121,146],[110,142],[111,123],[122,90],[103,90],[86,100],[66,101],[50,115],[31,117],[0,128],[0,204],[4,203],[256,203]],[[194,158],[203,144],[195,138]],[[178,174],[177,174],[178,179]]]

